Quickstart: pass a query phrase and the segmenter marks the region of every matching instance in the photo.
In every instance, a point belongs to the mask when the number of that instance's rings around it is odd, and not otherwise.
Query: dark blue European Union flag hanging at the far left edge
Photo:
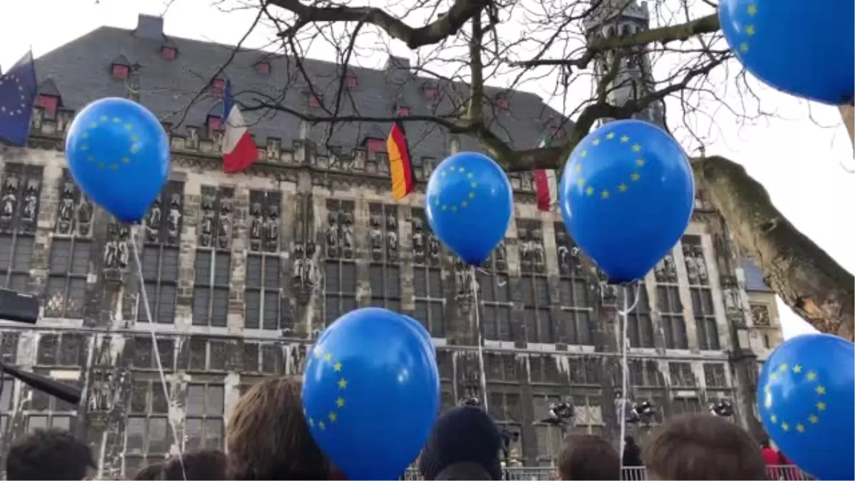
[[[35,100],[36,68],[29,51],[9,72],[0,75],[0,141],[19,147],[27,145]]]

